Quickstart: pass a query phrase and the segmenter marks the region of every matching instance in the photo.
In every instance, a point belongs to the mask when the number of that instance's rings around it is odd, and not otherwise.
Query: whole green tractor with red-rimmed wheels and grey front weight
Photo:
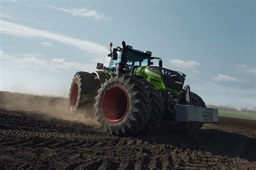
[[[193,131],[204,123],[218,123],[218,110],[184,86],[184,73],[165,69],[161,58],[122,42],[112,51],[109,67],[97,64],[93,73],[77,72],[69,94],[69,112],[94,105],[105,132],[114,135]],[[152,66],[153,59],[159,66]]]

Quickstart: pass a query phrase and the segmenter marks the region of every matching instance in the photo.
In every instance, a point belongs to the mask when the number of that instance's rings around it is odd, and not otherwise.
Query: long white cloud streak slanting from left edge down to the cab
[[[33,29],[29,28],[28,26],[23,26],[20,24],[11,23],[7,21],[1,21],[0,32],[18,37],[48,38],[51,40],[56,40],[57,42],[64,43],[70,46],[75,46],[85,52],[90,53],[91,56],[94,57],[92,58],[92,60],[101,61],[104,64],[106,64],[109,60],[109,57],[106,57],[107,53],[109,53],[109,50],[107,50],[105,46],[102,46],[97,43],[92,43],[86,40],[61,35],[59,33]]]

